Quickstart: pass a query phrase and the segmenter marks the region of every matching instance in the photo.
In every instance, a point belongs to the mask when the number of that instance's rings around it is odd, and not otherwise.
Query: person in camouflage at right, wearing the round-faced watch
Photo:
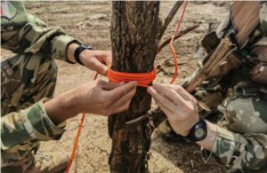
[[[170,84],[154,84],[148,91],[174,132],[182,137],[188,137],[199,122],[199,115],[206,117],[196,98],[210,107],[213,114],[223,114],[218,124],[206,121],[206,138],[197,142],[206,163],[223,165],[231,172],[266,172],[267,3],[234,2],[230,11],[216,35],[236,43],[238,49],[234,52],[239,56],[239,67],[227,73],[220,71],[218,74],[223,74],[220,80],[210,78],[202,83],[194,97],[181,86]],[[248,28],[252,23],[255,28]],[[246,29],[249,35],[240,36]],[[166,133],[166,125],[158,130]]]

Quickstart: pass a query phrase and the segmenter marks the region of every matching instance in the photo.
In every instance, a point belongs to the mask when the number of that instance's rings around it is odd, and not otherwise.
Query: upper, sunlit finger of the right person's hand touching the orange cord
[[[163,84],[154,84],[152,86],[159,94],[163,94],[166,98],[172,100],[174,104],[183,106],[186,104],[184,98],[182,98],[175,90],[165,87]]]

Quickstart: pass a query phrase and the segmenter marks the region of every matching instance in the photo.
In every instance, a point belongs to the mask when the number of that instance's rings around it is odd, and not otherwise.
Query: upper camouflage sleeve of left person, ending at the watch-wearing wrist
[[[68,61],[69,43],[80,42],[61,28],[46,28],[40,21],[28,15],[28,22],[23,27],[5,26],[1,32],[1,46],[18,54],[43,52],[53,59]]]

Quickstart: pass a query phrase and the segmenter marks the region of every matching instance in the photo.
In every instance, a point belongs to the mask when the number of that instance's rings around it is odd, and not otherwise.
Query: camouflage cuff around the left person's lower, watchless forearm
[[[44,110],[44,102],[48,98],[43,98],[35,105],[25,110],[25,116],[22,123],[27,130],[30,138],[36,140],[52,140],[60,139],[63,134],[66,122],[62,122],[58,126],[54,125]]]

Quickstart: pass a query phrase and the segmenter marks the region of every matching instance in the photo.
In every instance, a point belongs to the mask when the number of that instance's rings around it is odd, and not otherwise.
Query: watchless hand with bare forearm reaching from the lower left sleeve
[[[96,80],[45,102],[44,110],[55,124],[79,113],[116,114],[128,109],[136,86],[137,82],[107,83]]]

